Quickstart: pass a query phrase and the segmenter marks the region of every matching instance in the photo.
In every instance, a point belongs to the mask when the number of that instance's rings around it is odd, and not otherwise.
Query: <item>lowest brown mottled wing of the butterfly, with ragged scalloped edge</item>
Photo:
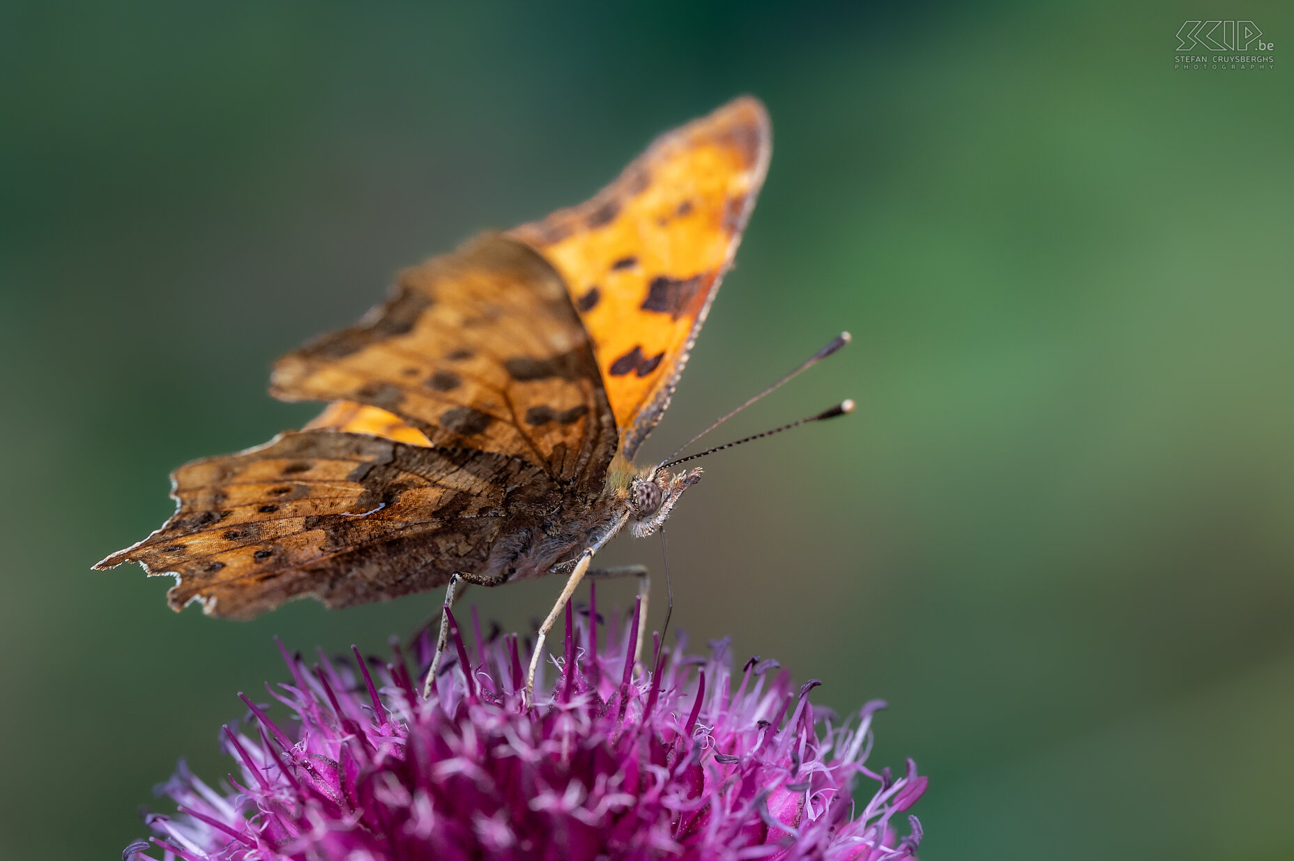
[[[176,514],[94,567],[175,574],[172,607],[201,601],[237,619],[302,596],[344,607],[484,571],[510,518],[560,498],[520,458],[330,430],[194,461],[171,479]]]

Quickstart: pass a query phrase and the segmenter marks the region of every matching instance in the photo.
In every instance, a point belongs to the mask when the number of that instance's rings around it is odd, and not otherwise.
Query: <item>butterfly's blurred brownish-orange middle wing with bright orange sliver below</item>
[[[616,427],[562,277],[485,236],[400,273],[360,324],[274,365],[285,400],[343,401],[312,427],[516,456],[600,482]]]

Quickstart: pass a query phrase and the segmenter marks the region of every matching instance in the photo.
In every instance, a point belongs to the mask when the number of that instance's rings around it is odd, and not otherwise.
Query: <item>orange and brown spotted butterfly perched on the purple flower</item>
[[[177,469],[175,515],[94,567],[140,562],[176,577],[171,607],[232,619],[446,584],[448,607],[467,583],[567,574],[542,642],[593,554],[626,527],[655,532],[701,476],[633,458],[770,151],[765,107],[740,97],[585,203],[405,269],[358,324],[274,365],[272,394],[329,401],[322,414]]]

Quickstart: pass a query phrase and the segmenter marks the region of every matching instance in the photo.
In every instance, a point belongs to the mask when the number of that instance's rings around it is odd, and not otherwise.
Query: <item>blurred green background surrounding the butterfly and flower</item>
[[[1192,17],[1294,35],[1277,3],[0,5],[0,856],[116,857],[180,755],[224,774],[272,634],[379,650],[439,601],[237,624],[89,571],[168,470],[313,413],[269,363],[752,92],[767,185],[646,454],[840,329],[721,436],[859,409],[707,462],[675,624],[889,699],[923,858],[1294,857],[1294,88],[1175,71]]]

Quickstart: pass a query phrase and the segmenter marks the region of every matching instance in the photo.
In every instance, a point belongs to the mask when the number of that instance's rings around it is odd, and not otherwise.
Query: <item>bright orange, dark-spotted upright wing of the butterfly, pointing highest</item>
[[[586,203],[510,232],[565,280],[626,457],[669,405],[770,153],[763,105],[736,98],[657,139]]]

